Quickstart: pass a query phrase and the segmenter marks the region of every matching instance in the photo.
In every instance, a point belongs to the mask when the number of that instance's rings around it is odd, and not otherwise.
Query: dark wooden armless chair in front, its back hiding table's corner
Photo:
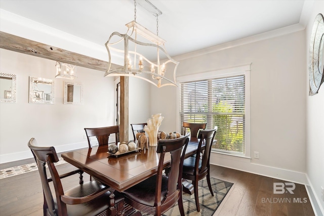
[[[161,215],[178,202],[180,214],[183,216],[181,176],[188,142],[189,133],[178,139],[159,140],[156,148],[156,152],[160,153],[157,174],[124,191],[125,202],[139,211],[155,215]],[[168,176],[162,172],[167,152],[171,154]]]

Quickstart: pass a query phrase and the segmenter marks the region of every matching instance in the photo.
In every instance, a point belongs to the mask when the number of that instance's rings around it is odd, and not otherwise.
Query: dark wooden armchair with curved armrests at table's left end
[[[36,140],[31,138],[28,142],[35,161],[37,163],[39,176],[41,177],[44,204],[43,211],[44,216],[65,216],[65,215],[115,215],[116,212],[123,212],[124,198],[119,193],[114,193],[115,202],[110,200],[110,191],[106,185],[103,185],[97,181],[83,182],[80,178],[80,182],[77,186],[64,191],[61,179],[74,174],[82,174],[80,169],[68,172],[66,174],[59,175],[55,162],[59,161],[55,148],[52,147],[40,147]],[[47,176],[46,165],[48,165],[50,178]],[[54,190],[52,193],[52,187],[50,182],[53,182]],[[54,197],[53,197],[54,196]],[[110,203],[116,203],[110,208]],[[116,210],[117,209],[117,210]]]

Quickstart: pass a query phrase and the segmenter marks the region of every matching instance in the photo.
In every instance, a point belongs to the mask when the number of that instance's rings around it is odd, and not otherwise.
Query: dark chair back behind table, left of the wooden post
[[[89,148],[92,147],[90,142],[91,137],[96,137],[98,140],[99,146],[108,146],[108,140],[110,134],[115,134],[116,145],[118,143],[118,133],[119,133],[119,126],[107,126],[107,127],[94,127],[94,128],[85,128]]]

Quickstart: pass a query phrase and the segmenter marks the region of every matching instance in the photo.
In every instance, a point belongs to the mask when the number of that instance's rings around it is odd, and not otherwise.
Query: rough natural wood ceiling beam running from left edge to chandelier
[[[3,31],[0,31],[0,48],[100,71],[106,71],[109,67],[109,62],[42,44]],[[111,64],[112,69],[116,67],[116,64]]]

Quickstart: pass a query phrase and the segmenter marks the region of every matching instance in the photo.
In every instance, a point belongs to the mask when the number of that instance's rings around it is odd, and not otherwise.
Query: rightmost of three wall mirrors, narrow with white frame
[[[64,81],[64,104],[83,104],[82,84]]]

